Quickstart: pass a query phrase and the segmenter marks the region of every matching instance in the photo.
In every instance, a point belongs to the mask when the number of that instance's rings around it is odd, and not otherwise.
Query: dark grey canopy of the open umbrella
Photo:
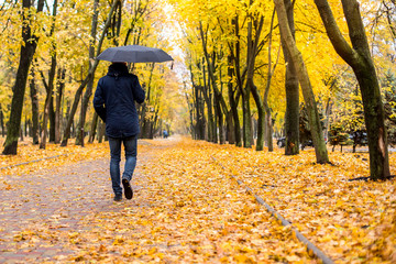
[[[140,45],[109,47],[97,59],[112,63],[163,63],[173,58],[163,50]]]

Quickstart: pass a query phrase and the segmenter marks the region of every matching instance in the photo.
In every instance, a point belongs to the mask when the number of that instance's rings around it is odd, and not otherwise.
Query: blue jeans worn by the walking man
[[[110,176],[112,189],[116,195],[122,195],[121,178],[120,178],[120,162],[121,162],[121,144],[124,145],[125,151],[125,167],[122,178],[132,179],[134,168],[136,166],[138,155],[138,135],[130,138],[114,139],[109,136],[110,144]]]

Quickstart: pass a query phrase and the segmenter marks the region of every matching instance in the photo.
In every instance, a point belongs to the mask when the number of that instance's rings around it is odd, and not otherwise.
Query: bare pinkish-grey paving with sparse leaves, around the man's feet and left
[[[144,163],[147,156],[139,160]],[[138,168],[134,182],[140,179],[142,174]],[[33,175],[6,176],[4,182],[9,187],[0,190],[0,263],[25,263],[74,254],[62,243],[42,244],[38,238],[35,241],[32,237],[50,230],[78,231],[87,228],[79,223],[87,215],[121,211],[128,202],[112,200],[108,158]],[[140,188],[133,186],[135,194]]]

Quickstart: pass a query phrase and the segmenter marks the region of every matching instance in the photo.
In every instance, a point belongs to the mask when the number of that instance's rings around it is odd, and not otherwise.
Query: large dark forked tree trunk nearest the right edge
[[[343,37],[327,0],[315,0],[336,52],[352,67],[361,92],[369,136],[370,176],[385,179],[389,174],[387,133],[378,78],[370,53],[356,0],[341,0],[352,46]]]

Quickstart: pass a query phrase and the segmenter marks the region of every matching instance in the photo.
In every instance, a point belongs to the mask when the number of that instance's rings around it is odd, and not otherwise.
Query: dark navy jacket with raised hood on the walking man
[[[124,64],[111,64],[98,81],[94,108],[106,122],[110,138],[128,138],[140,133],[135,101],[144,101],[144,90],[138,76],[128,73]]]

